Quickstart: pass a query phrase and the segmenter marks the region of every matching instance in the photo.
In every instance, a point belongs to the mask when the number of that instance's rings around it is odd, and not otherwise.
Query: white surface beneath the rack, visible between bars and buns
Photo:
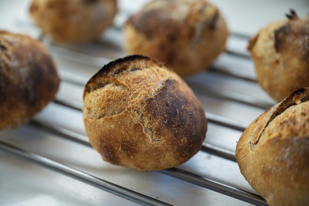
[[[120,8],[136,10],[144,1],[121,0]],[[250,36],[270,21],[284,17],[283,13],[289,8],[295,8],[300,15],[305,15],[309,11],[308,0],[214,0],[214,2],[226,16],[232,32]],[[38,35],[39,30],[27,24],[29,22],[28,4],[28,0],[0,0],[0,29],[19,31],[32,36]],[[118,16],[116,21],[121,22],[123,18],[123,16]],[[122,36],[118,31],[113,29],[107,31],[102,37],[102,42],[102,44],[94,42],[75,47],[77,50],[90,54],[82,54],[78,57],[76,53],[57,46],[49,45],[48,49],[54,56],[60,74],[69,73],[80,77],[81,81],[86,81],[109,61],[107,59],[115,59],[124,55],[119,47],[122,44]],[[245,41],[233,44],[235,49],[243,51],[245,46]],[[254,72],[251,60],[231,57],[227,54],[223,54],[215,64]],[[236,91],[270,104],[273,103],[254,82],[209,72],[188,78],[187,81],[199,82],[231,92]],[[81,104],[82,90],[82,86],[63,82],[58,97]],[[263,109],[207,96],[198,90],[195,90],[195,93],[203,103],[206,112],[211,111],[240,122],[249,124],[263,112]],[[85,133],[81,113],[55,103],[50,103],[36,119],[69,128],[81,134]],[[205,141],[234,151],[240,135],[239,131],[209,124]],[[103,162],[100,156],[90,148],[27,125],[12,131],[0,132],[0,139],[172,205],[249,205],[158,172],[138,172],[110,165]],[[180,168],[254,192],[240,174],[237,164],[231,161],[199,152]],[[42,205],[120,206],[135,204],[64,175],[0,153],[0,206]]]

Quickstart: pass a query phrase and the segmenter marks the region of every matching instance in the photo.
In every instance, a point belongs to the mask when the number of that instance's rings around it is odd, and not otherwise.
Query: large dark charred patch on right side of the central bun
[[[206,119],[202,107],[193,102],[190,93],[179,90],[178,82],[166,80],[160,91],[146,100],[145,110],[153,122],[161,125],[153,128],[155,133],[164,134],[164,130],[169,130],[174,134],[168,141],[180,145],[180,156],[196,152],[196,145],[200,145],[205,137]],[[183,138],[186,143],[182,143]]]

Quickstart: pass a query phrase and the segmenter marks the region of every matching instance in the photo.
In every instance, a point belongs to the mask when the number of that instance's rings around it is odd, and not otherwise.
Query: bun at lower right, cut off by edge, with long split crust
[[[237,143],[236,160],[270,206],[308,206],[309,87],[252,122]]]

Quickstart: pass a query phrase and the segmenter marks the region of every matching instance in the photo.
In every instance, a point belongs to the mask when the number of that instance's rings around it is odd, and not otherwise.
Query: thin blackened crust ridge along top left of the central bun
[[[107,75],[108,72],[110,72],[112,69],[114,69],[115,67],[117,67],[118,65],[120,66],[120,64],[122,63],[126,63],[126,62],[132,62],[132,61],[136,61],[136,60],[151,60],[149,57],[147,56],[143,56],[143,55],[129,55],[126,56],[124,58],[119,58],[116,59],[115,61],[111,61],[110,63],[104,65],[102,67],[102,69],[100,69],[87,83],[85,86],[85,90],[84,90],[84,94],[83,94],[83,98],[85,97],[86,93],[90,92],[90,86],[89,84],[91,82],[94,82],[97,78]]]

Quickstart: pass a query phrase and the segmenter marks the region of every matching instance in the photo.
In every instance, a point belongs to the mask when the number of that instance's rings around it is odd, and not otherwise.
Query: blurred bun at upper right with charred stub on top
[[[296,89],[309,86],[309,14],[278,20],[249,42],[258,82],[271,97],[282,101]]]

